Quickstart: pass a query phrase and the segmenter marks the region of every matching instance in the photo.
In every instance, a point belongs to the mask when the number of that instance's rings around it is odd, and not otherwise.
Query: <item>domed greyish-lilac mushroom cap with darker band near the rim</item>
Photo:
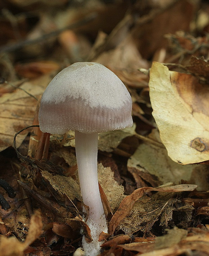
[[[77,62],[58,73],[40,102],[40,130],[100,133],[132,126],[131,96],[122,81],[96,62]]]

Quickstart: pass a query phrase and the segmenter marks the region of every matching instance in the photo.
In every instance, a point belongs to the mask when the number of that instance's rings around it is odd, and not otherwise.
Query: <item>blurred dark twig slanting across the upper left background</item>
[[[87,16],[86,18],[84,18],[81,21],[78,21],[78,22],[76,22],[74,24],[71,24],[67,27],[55,30],[55,31],[50,32],[48,34],[44,34],[44,35],[42,35],[40,37],[37,37],[35,39],[28,39],[28,40],[25,40],[25,41],[18,42],[17,44],[3,46],[3,47],[0,48],[0,53],[1,52],[12,52],[12,51],[21,49],[26,45],[37,44],[37,43],[39,43],[41,41],[44,41],[44,40],[47,40],[48,38],[51,38],[53,36],[58,36],[60,33],[62,33],[65,30],[81,27],[81,26],[85,25],[86,23],[92,21],[96,17],[97,17],[96,13],[91,13],[89,16]]]

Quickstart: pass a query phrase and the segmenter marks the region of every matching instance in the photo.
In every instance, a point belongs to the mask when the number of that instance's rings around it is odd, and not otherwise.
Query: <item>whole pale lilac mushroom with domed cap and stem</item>
[[[83,237],[86,255],[99,253],[99,234],[108,231],[98,187],[98,133],[132,126],[131,109],[125,85],[96,62],[77,62],[64,68],[41,98],[38,119],[42,132],[64,134],[75,130],[81,194],[89,207],[87,224],[93,239],[87,243]]]

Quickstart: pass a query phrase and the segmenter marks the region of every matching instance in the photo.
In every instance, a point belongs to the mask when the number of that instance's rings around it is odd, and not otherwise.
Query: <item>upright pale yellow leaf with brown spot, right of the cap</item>
[[[209,90],[192,75],[153,62],[150,101],[169,157],[182,165],[209,160]]]

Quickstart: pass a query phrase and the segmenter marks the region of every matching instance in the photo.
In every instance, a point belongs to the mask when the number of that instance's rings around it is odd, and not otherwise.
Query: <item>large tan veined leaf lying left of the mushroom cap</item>
[[[0,151],[13,145],[14,134],[32,125],[37,99],[31,95],[36,98],[41,95],[50,80],[50,75],[42,76],[37,80],[25,82],[20,86],[21,89],[17,88],[14,92],[5,93],[0,97]],[[28,131],[24,131],[17,136],[17,147],[27,134]]]

